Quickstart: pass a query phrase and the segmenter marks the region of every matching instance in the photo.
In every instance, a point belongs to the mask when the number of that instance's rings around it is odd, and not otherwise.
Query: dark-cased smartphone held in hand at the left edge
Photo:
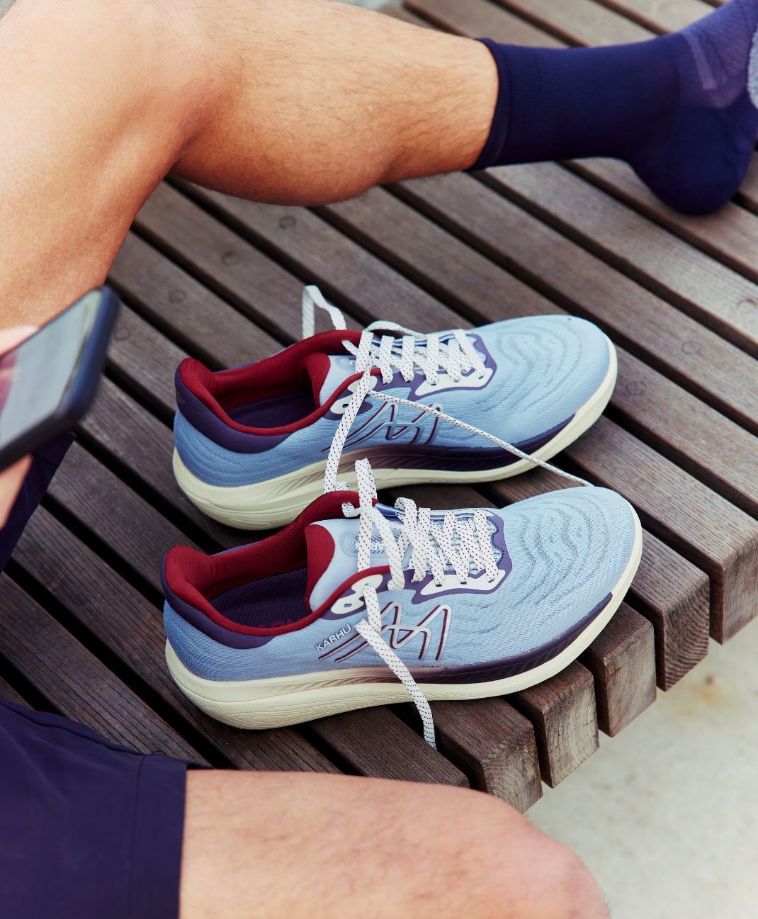
[[[118,314],[110,290],[92,290],[0,356],[0,471],[85,414]]]

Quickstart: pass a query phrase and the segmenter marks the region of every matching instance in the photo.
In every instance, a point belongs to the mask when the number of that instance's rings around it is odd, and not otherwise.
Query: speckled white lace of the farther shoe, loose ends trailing
[[[313,335],[316,307],[328,313],[335,329],[344,330],[347,328],[345,316],[324,298],[321,290],[311,286],[304,290],[302,298],[303,337]],[[375,345],[374,333],[379,330],[402,335],[400,344],[398,344],[396,335],[383,335],[379,345]],[[452,335],[452,338],[449,337],[450,335]],[[443,341],[443,338],[447,340]],[[544,462],[542,459],[537,459],[529,453],[525,453],[500,437],[495,437],[474,425],[469,425],[465,421],[454,418],[452,415],[445,414],[436,405],[415,403],[411,402],[410,399],[392,396],[387,392],[373,391],[379,379],[371,372],[373,369],[379,369],[381,379],[385,383],[390,382],[396,370],[401,372],[403,380],[406,381],[413,380],[415,372],[419,370],[432,385],[436,384],[440,370],[447,373],[454,381],[460,380],[464,372],[473,372],[479,376],[483,375],[485,367],[481,355],[473,346],[470,337],[462,330],[456,329],[452,332],[424,335],[424,333],[414,332],[413,329],[406,329],[396,323],[377,322],[371,323],[363,330],[357,347],[348,341],[343,342],[343,346],[350,354],[355,355],[356,372],[363,374],[363,376],[352,384],[353,395],[347,402],[345,413],[337,430],[334,432],[332,446],[329,448],[329,455],[326,458],[326,469],[323,476],[324,492],[334,492],[347,487],[345,482],[337,481],[340,459],[345,449],[345,442],[350,433],[350,428],[356,420],[361,405],[367,398],[395,405],[408,405],[416,411],[432,414],[441,421],[447,421],[451,425],[458,425],[458,427],[470,431],[471,434],[485,437],[487,440],[492,441],[496,447],[502,448],[519,459],[526,459],[542,469],[555,472],[570,482],[578,482],[580,485],[590,484],[590,482],[577,475],[571,475],[570,472],[564,472],[558,467],[552,466],[549,462]]]

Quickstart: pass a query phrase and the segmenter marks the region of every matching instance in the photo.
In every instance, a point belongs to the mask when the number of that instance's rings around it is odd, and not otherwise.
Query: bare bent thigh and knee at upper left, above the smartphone
[[[0,325],[102,282],[208,83],[204,45],[149,0],[17,0],[0,19]]]

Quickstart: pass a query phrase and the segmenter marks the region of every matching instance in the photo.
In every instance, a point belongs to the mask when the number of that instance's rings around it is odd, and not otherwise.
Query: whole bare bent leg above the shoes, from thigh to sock
[[[471,165],[489,51],[327,0],[17,0],[0,18],[0,326],[100,283],[177,169],[314,203]]]

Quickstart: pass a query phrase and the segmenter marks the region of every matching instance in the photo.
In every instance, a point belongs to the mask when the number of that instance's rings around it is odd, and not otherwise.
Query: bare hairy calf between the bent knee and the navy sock
[[[498,79],[480,42],[331,0],[227,0],[200,16],[221,92],[177,165],[194,181],[318,204],[466,169],[487,140]]]

